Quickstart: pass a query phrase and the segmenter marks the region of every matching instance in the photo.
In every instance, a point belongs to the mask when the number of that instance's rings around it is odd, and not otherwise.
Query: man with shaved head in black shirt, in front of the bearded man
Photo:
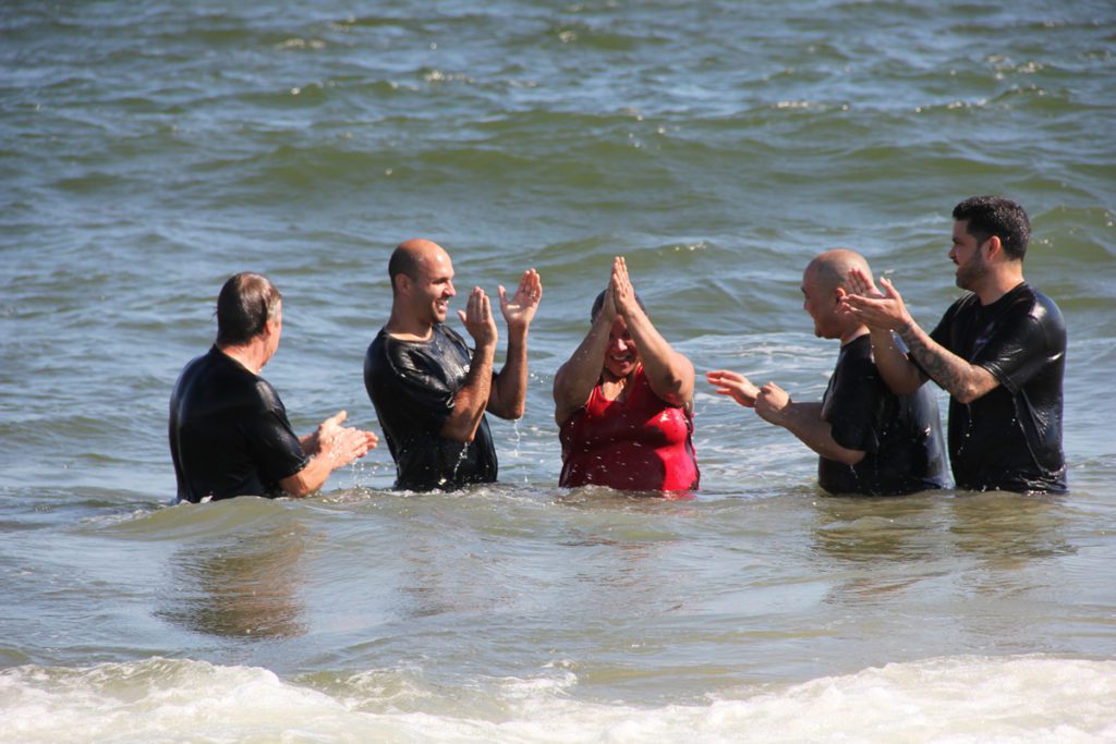
[[[775,383],[756,387],[743,375],[706,373],[729,395],[818,453],[818,484],[829,493],[889,496],[945,486],[945,450],[937,402],[929,389],[895,395],[872,359],[868,329],[838,312],[853,270],[869,273],[855,251],[817,255],[802,272],[802,309],[819,338],[840,340],[820,403],[792,402]]]

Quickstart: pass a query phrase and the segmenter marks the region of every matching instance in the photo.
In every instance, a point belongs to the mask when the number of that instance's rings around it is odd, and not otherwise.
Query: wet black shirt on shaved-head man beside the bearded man
[[[863,451],[856,465],[818,458],[818,483],[830,493],[896,495],[945,486],[937,402],[925,386],[892,393],[872,359],[872,339],[844,345],[821,400],[834,441]]]

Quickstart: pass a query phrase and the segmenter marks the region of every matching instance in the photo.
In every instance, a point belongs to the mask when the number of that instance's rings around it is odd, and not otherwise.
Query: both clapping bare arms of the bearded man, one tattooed
[[[856,269],[853,271],[859,273]],[[847,294],[841,300],[841,309],[853,312],[872,330],[876,366],[893,393],[911,393],[925,381],[911,358],[960,403],[971,403],[1000,384],[989,370],[969,364],[934,341],[907,312],[891,280],[881,279],[879,283],[884,288],[879,297]],[[906,355],[891,340],[891,331],[906,344]]]

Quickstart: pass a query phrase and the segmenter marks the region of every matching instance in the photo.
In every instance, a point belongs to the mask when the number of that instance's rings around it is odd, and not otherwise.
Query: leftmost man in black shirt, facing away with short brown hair
[[[266,277],[230,278],[217,302],[218,337],[182,370],[171,395],[171,457],[177,500],[305,496],[376,446],[372,432],[343,427],[338,412],[301,438],[260,377],[279,348],[282,298]]]

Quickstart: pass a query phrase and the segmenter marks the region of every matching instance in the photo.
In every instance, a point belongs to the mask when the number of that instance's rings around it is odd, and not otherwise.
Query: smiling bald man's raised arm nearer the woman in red
[[[492,380],[488,409],[500,418],[519,418],[527,400],[527,331],[542,299],[542,280],[539,272],[528,269],[519,280],[516,294],[508,300],[508,292],[500,287],[500,310],[508,323],[508,358]]]

